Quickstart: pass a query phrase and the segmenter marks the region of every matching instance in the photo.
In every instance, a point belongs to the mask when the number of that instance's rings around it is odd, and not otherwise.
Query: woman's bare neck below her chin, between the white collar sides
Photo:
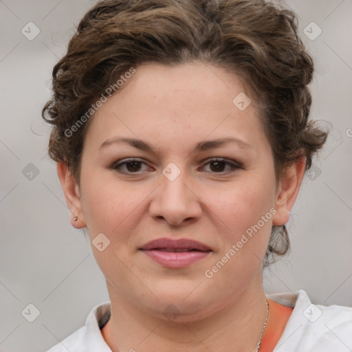
[[[109,285],[108,285],[109,287]],[[243,292],[236,300],[214,307],[205,318],[182,316],[173,321],[142,311],[109,289],[111,318],[102,336],[111,351],[253,352],[267,314],[263,285]]]

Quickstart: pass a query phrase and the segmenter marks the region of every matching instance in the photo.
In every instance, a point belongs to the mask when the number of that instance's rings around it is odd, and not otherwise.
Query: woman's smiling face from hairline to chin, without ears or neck
[[[94,115],[76,214],[112,301],[201,318],[258,292],[273,221],[285,221],[270,142],[243,92],[219,67],[148,64]],[[157,239],[171,241],[146,250]],[[175,252],[179,239],[204,247]]]

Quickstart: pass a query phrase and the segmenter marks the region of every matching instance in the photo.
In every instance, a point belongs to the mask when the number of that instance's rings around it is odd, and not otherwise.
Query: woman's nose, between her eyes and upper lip
[[[170,225],[189,223],[201,217],[201,199],[186,172],[173,179],[160,175],[160,186],[152,193],[149,213],[153,219],[165,219]]]

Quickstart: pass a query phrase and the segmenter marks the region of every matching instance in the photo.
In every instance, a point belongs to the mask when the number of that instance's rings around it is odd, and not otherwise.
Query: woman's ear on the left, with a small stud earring
[[[58,178],[60,179],[61,186],[63,187],[67,206],[72,212],[70,217],[71,224],[74,228],[85,228],[87,223],[85,221],[85,215],[83,214],[80,201],[80,189],[76,179],[65,162],[58,162],[56,164],[56,169],[58,171]],[[77,219],[74,219],[75,217],[77,217]]]

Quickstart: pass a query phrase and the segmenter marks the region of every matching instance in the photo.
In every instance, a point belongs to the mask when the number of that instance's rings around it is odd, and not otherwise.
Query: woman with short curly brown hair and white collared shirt
[[[313,63],[264,1],[98,2],[54,67],[50,157],[111,303],[57,351],[348,351],[352,309],[265,295],[289,248]]]

